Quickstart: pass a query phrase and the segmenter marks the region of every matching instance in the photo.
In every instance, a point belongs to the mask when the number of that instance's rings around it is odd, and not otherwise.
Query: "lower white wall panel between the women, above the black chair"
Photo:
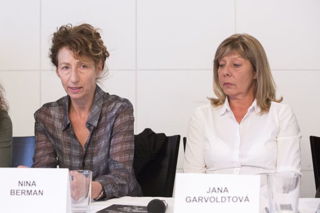
[[[137,133],[151,128],[156,133],[180,135],[177,168],[183,167],[182,137],[189,118],[212,97],[212,71],[138,71]]]

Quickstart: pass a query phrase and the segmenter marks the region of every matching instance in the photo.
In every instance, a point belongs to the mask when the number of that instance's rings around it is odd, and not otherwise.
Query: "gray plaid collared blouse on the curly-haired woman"
[[[133,171],[134,116],[129,100],[96,86],[86,123],[90,131],[84,152],[69,119],[69,96],[44,104],[34,114],[32,167],[86,169],[102,184],[107,199],[141,196]]]

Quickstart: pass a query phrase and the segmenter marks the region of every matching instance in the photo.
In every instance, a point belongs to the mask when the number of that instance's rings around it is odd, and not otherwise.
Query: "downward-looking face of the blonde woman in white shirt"
[[[248,59],[239,54],[221,58],[218,67],[220,87],[229,99],[244,99],[254,96],[254,79],[257,78]]]

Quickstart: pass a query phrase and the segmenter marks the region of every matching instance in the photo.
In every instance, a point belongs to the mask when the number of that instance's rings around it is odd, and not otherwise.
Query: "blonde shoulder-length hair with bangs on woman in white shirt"
[[[227,97],[219,83],[219,60],[234,53],[238,53],[251,62],[251,66],[257,74],[257,79],[254,82],[255,100],[261,109],[260,113],[268,112],[271,101],[281,102],[283,98],[275,98],[275,83],[266,53],[260,42],[248,34],[231,35],[222,41],[217,49],[214,59],[214,93],[218,98],[209,98],[212,106],[218,107],[224,104]]]

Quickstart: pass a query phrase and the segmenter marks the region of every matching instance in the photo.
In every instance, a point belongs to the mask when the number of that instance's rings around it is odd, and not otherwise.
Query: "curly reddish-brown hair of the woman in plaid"
[[[103,45],[98,28],[94,28],[89,24],[81,24],[72,26],[71,24],[61,26],[52,37],[52,45],[49,57],[53,65],[58,67],[58,53],[63,47],[71,50],[75,57],[88,57],[94,61],[97,66],[102,62],[102,72],[99,75],[103,77],[108,73],[108,69],[104,69],[105,60],[109,57],[109,52]]]

